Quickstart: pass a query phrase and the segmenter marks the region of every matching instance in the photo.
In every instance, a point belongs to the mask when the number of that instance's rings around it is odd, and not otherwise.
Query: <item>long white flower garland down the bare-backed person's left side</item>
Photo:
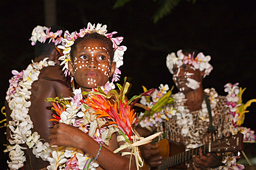
[[[21,149],[26,149],[26,147],[21,147],[20,144],[26,143],[28,147],[33,147],[33,141],[31,141],[31,139],[35,135],[31,133],[33,122],[28,115],[28,110],[31,105],[31,102],[28,101],[31,95],[29,89],[31,89],[33,82],[37,81],[40,70],[42,70],[43,67],[55,65],[53,61],[47,60],[48,58],[45,58],[39,63],[32,61],[32,64],[28,65],[26,70],[21,72],[12,70],[12,74],[15,76],[9,81],[10,87],[8,88],[6,96],[8,106],[12,111],[10,114],[12,120],[8,123],[12,134],[9,140],[10,145],[8,145],[5,150],[6,152],[10,151],[9,157],[11,161],[8,161],[10,169],[19,169],[24,166],[26,157],[24,156],[24,151]],[[34,134],[37,134],[37,132]]]

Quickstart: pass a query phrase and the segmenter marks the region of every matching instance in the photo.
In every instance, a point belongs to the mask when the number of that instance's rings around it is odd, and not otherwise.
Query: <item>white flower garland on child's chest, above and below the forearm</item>
[[[101,128],[105,121],[103,118],[96,118],[93,109],[86,111],[86,105],[81,103],[82,91],[81,89],[75,89],[73,98],[71,99],[70,105],[66,105],[66,110],[62,111],[60,116],[60,123],[65,123],[67,125],[73,125],[78,127],[84,133],[88,132],[89,136],[96,140],[97,142],[109,145],[109,136],[116,132],[116,128],[109,127]],[[77,118],[79,118],[77,120]],[[100,138],[100,135],[102,138]],[[72,147],[54,147],[51,149],[51,155],[48,157],[50,165],[48,165],[48,170],[62,169],[68,166],[68,169],[84,169],[85,165],[89,169],[95,169],[99,166],[98,163],[91,160],[91,157],[86,156],[79,149]],[[74,164],[66,164],[66,162],[73,160]],[[66,167],[67,169],[67,167]]]

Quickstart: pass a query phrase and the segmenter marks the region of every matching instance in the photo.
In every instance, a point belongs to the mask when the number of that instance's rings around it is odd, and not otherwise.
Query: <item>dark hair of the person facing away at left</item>
[[[51,27],[51,32],[57,32],[57,30],[62,30],[62,37],[64,35],[64,28],[55,25],[53,27]],[[35,44],[35,58],[39,57],[39,56],[47,56],[49,54],[51,54],[51,52],[53,50],[55,50],[55,44],[54,43],[49,43],[50,39],[46,39],[45,43],[40,43],[37,41],[37,43]]]

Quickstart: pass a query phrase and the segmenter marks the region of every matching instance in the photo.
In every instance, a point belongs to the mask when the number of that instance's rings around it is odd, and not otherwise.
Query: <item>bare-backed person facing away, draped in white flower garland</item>
[[[58,60],[62,51],[56,47],[62,43],[64,30],[61,29],[39,25],[34,28],[30,41],[35,45],[35,60],[26,70],[12,71],[14,76],[6,96],[7,139],[10,143],[6,151],[10,151],[10,169],[44,169],[48,165],[33,154],[35,149],[39,151],[41,147],[42,150],[42,143],[48,142],[49,129],[54,126],[49,121],[53,118],[52,105],[46,98],[71,96],[70,81],[64,76]],[[43,140],[37,141],[39,138]]]

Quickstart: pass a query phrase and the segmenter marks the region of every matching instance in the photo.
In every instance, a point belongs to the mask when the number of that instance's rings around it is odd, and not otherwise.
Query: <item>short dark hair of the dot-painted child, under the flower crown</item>
[[[86,41],[86,40],[98,40],[101,41],[102,43],[106,43],[107,44],[107,50],[109,51],[109,56],[111,59],[111,63],[113,62],[113,43],[112,41],[107,38],[106,36],[102,35],[102,34],[98,34],[97,32],[92,32],[91,34],[85,34],[84,37],[79,37],[78,39],[76,39],[74,41],[74,44],[71,46],[71,61],[73,61],[74,58],[74,54],[77,51],[77,45],[81,42],[81,41]]]

